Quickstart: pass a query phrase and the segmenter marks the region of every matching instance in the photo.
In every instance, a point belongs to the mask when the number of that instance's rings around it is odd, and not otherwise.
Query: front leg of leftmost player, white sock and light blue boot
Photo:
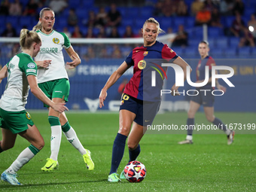
[[[31,145],[24,149],[17,159],[14,160],[14,163],[12,163],[1,175],[3,181],[8,181],[13,185],[20,185],[20,182],[17,180],[17,171],[28,163],[29,160],[44,147],[44,139],[35,125],[28,125],[28,129],[19,133],[19,135],[30,142]]]

